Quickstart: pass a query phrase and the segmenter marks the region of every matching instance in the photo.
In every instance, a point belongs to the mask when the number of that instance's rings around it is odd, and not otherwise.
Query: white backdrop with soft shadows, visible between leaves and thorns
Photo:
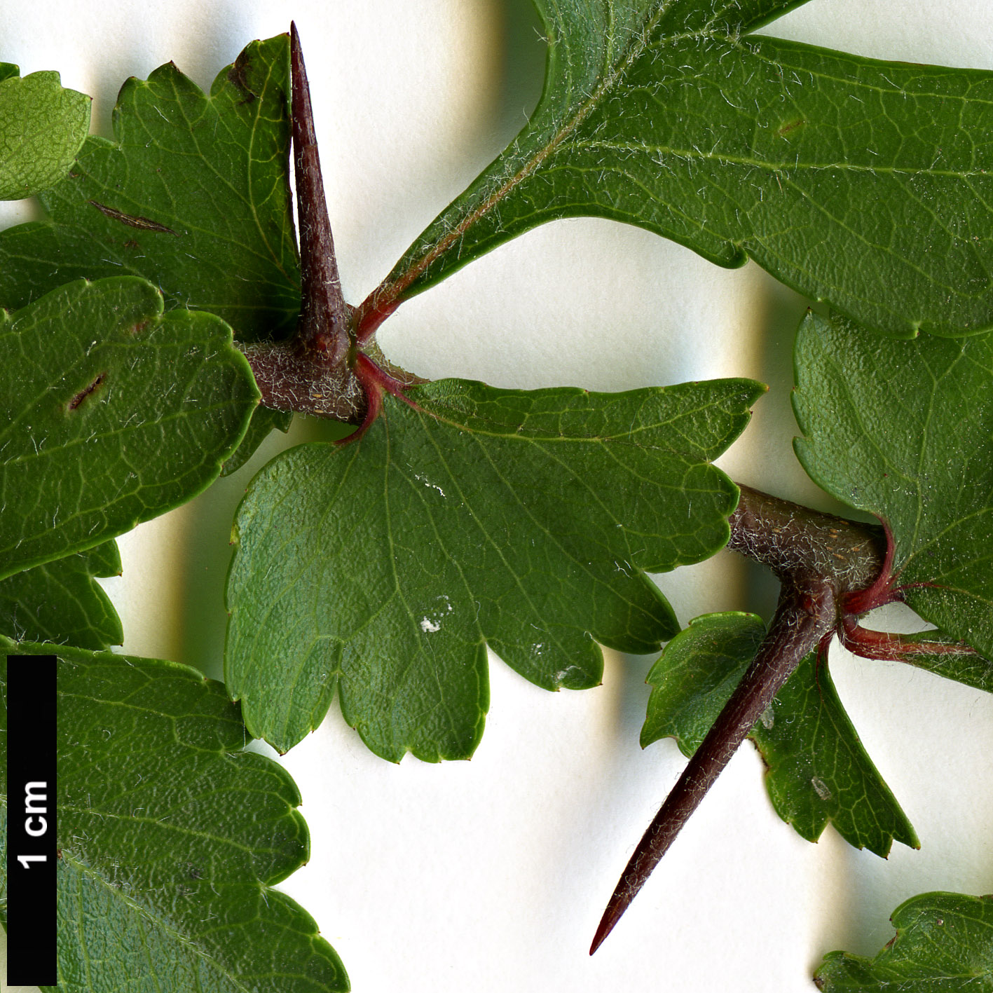
[[[357,303],[523,123],[543,59],[526,0],[5,0],[0,60],[62,71],[93,94],[93,128],[108,134],[126,76],[172,59],[207,87],[248,41],[291,17]],[[767,30],[993,68],[990,0],[812,0]],[[12,209],[7,222],[28,215]],[[789,345],[803,306],[755,266],[720,270],[644,231],[579,219],[539,228],[404,305],[380,342],[424,375],[501,386],[762,379],[771,392],[720,464],[740,482],[830,509],[789,447]],[[230,518],[262,461],[121,539],[124,575],[107,588],[126,650],[219,674]],[[659,583],[683,623],[768,612],[775,597],[730,553]],[[650,661],[608,652],[602,687],[552,695],[493,659],[490,718],[471,763],[382,762],[337,703],[285,757],[312,857],[283,889],[317,919],[356,991],[812,990],[824,952],[875,952],[906,898],[993,890],[993,700],[838,651],[841,696],[922,850],[898,845],[883,861],[830,827],[818,844],[802,841],[773,813],[746,746],[590,959],[607,897],[683,764],[669,742],[638,748]]]

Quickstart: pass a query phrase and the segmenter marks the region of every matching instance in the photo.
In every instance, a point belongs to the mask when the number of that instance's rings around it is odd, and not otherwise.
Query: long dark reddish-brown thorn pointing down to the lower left
[[[755,660],[638,842],[597,927],[591,955],[621,920],[651,870],[782,684],[807,652],[829,634],[833,620],[833,590],[826,584],[812,595],[783,588],[776,617]]]

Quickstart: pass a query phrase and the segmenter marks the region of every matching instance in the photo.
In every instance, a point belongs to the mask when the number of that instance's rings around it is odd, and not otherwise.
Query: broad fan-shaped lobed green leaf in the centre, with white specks
[[[644,571],[728,540],[737,489],[709,465],[761,393],[749,380],[628,393],[442,380],[386,398],[341,448],[255,478],[235,521],[225,681],[285,751],[341,687],[373,752],[472,754],[486,646],[547,689],[596,685],[594,639],[650,651],[676,631]]]

